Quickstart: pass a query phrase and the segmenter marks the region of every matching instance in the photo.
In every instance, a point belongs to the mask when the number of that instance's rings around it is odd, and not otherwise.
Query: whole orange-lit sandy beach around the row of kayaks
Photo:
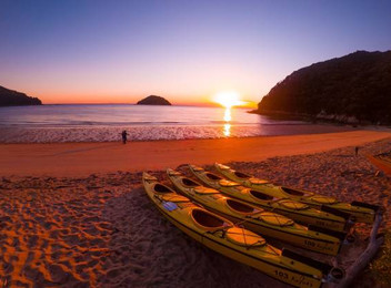
[[[142,171],[167,183],[166,167],[187,172],[181,164],[211,168],[218,161],[278,184],[388,207],[391,178],[377,174],[363,154],[391,150],[390,136],[358,131],[127,145],[1,144],[0,287],[283,287],[166,220],[144,195]],[[390,216],[387,210],[384,227]],[[357,243],[337,258],[342,267],[364,248],[370,228],[359,225]],[[368,277],[363,282],[371,284]]]

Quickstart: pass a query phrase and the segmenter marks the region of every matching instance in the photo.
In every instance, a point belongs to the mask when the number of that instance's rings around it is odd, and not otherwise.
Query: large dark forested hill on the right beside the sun
[[[270,90],[261,114],[391,123],[391,51],[358,51],[300,69]]]

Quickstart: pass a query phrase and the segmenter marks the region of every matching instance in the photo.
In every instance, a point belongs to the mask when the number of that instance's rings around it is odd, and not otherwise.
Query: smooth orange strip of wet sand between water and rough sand
[[[319,153],[391,137],[390,132],[353,131],[289,136],[102,143],[0,144],[2,176],[88,176],[140,172],[181,164],[259,162]],[[353,151],[352,151],[353,153]]]

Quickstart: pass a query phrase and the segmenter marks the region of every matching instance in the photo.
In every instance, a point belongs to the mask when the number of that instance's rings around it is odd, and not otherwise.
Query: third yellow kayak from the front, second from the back
[[[205,185],[215,188],[228,196],[260,206],[267,210],[282,214],[301,224],[335,232],[348,230],[352,225],[349,220],[349,215],[344,213],[338,212],[339,215],[335,215],[312,208],[307,204],[289,198],[273,197],[265,193],[244,187],[237,182],[227,181],[223,177],[205,172],[199,167],[192,168],[191,171]]]

